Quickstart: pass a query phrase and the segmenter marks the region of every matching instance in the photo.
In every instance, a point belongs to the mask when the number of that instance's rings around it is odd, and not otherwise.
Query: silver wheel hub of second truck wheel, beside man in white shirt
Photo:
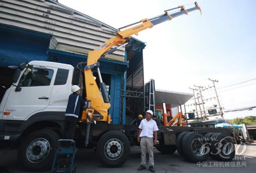
[[[124,151],[123,143],[119,139],[109,139],[105,143],[104,153],[110,160],[117,160]]]

